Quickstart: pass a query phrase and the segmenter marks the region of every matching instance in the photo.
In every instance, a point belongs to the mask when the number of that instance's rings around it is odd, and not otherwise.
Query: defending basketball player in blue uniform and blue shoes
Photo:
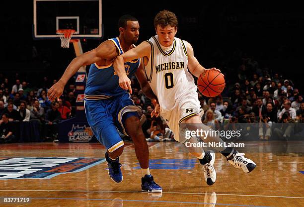
[[[131,136],[137,159],[142,169],[142,191],[161,193],[149,171],[149,149],[145,139],[138,112],[141,108],[134,105],[130,93],[119,87],[119,75],[113,68],[115,57],[135,47],[139,37],[138,20],[131,15],[124,15],[118,21],[119,37],[101,43],[97,48],[76,57],[67,67],[61,79],[48,91],[48,97],[54,101],[63,93],[68,80],[81,66],[89,65],[88,80],[84,91],[85,113],[88,123],[100,143],[106,148],[105,158],[108,163],[110,178],[120,183],[123,180],[119,156],[124,149],[117,128]],[[143,93],[152,100],[155,109],[152,116],[158,116],[159,104],[144,75],[143,63],[136,58],[124,64],[124,73],[130,78],[138,78]]]

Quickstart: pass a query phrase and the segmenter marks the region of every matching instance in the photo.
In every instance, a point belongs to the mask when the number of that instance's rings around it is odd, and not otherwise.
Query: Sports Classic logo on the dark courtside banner
[[[90,127],[84,126],[75,126],[73,124],[71,131],[68,133],[70,142],[89,142],[93,137],[93,132]]]

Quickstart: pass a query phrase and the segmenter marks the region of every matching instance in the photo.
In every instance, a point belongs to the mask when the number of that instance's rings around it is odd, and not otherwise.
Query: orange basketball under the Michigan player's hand
[[[225,88],[224,75],[216,70],[207,70],[205,76],[202,74],[197,80],[198,90],[206,97],[216,97]]]

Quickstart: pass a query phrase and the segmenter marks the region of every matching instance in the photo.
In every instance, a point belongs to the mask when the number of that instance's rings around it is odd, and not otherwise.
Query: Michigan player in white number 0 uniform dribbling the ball
[[[174,138],[185,145],[187,142],[200,141],[196,136],[185,138],[186,130],[210,129],[201,121],[203,111],[200,109],[197,86],[191,75],[199,77],[201,74],[206,74],[207,69],[195,58],[190,43],[175,37],[177,24],[177,17],[173,12],[168,10],[158,12],[154,18],[156,35],[118,56],[114,60],[114,69],[119,76],[120,87],[129,89],[132,93],[131,81],[126,75],[124,62],[143,58],[146,77],[160,105],[160,115],[167,121]],[[223,143],[223,140],[217,136],[204,138],[204,142]],[[203,165],[206,183],[213,185],[216,181],[213,166],[215,153],[205,152],[202,147],[189,147],[189,144],[186,147]],[[233,148],[216,147],[215,149],[220,151],[230,164],[241,168],[245,173],[251,172],[256,167],[253,161]]]

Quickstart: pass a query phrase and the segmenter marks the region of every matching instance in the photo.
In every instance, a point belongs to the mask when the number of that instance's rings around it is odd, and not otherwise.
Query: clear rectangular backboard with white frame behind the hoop
[[[101,0],[34,0],[34,39],[57,39],[56,30],[75,29],[72,39],[101,39]]]

